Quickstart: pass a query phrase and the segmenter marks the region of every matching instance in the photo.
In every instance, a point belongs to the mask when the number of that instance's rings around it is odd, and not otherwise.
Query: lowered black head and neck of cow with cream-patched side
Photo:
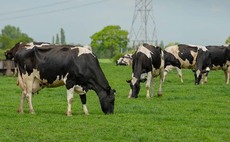
[[[205,48],[206,49],[206,48]],[[210,53],[206,49],[198,49],[198,54],[196,58],[196,65],[194,72],[195,85],[199,85],[202,76],[210,71],[211,67],[211,57]]]

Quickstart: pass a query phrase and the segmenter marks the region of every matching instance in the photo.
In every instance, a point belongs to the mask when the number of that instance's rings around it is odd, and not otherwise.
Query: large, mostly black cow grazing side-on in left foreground
[[[105,114],[114,112],[115,90],[111,89],[98,59],[88,48],[74,46],[43,46],[21,48],[16,52],[18,80],[22,89],[18,111],[23,113],[26,99],[30,113],[34,113],[32,93],[44,87],[65,85],[67,89],[67,112],[72,115],[73,93],[80,95],[83,111],[88,114],[86,93],[94,90]]]

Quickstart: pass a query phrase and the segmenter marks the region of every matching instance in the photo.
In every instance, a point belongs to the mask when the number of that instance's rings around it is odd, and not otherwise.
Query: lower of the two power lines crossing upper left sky
[[[35,13],[35,14],[28,14],[28,15],[22,15],[22,16],[2,18],[2,19],[0,19],[0,21],[15,20],[15,19],[20,19],[20,18],[25,18],[25,17],[32,17],[32,16],[51,14],[51,13],[56,13],[56,12],[61,12],[61,11],[67,11],[67,10],[71,10],[71,9],[75,9],[75,8],[81,8],[81,7],[100,4],[100,3],[103,3],[105,1],[108,1],[108,0],[100,0],[100,1],[97,1],[97,2],[91,2],[91,3],[81,4],[81,5],[75,5],[75,6],[71,6],[71,7],[66,7],[66,8],[56,9],[56,10],[50,10],[50,11],[46,11],[46,12],[39,12],[39,13]]]

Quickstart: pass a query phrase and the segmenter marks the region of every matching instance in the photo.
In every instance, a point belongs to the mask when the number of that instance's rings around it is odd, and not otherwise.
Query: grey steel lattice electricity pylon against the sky
[[[136,0],[133,21],[129,34],[132,46],[157,41],[156,24],[153,18],[153,1]]]

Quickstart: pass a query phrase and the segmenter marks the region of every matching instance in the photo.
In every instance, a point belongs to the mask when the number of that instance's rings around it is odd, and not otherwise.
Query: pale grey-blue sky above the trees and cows
[[[230,0],[153,0],[156,37],[170,42],[223,45],[230,36]],[[90,44],[108,25],[130,32],[135,0],[1,1],[0,30],[19,27],[35,41],[52,42],[65,31],[66,42]]]

